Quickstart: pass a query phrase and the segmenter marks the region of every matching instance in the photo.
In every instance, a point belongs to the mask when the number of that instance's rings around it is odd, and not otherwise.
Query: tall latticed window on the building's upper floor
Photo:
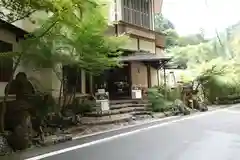
[[[151,0],[123,0],[123,20],[151,28]]]

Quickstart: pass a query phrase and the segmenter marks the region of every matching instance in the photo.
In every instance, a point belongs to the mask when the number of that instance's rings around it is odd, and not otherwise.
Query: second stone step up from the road
[[[99,112],[90,112],[90,113],[86,113],[85,116],[87,117],[101,117],[101,116],[109,116],[109,115],[116,115],[116,114],[124,114],[124,113],[130,113],[132,114],[132,112],[141,112],[141,113],[145,113],[148,112],[149,109],[146,107],[127,107],[127,108],[119,108],[119,109],[112,109],[109,111],[103,111],[102,113]]]

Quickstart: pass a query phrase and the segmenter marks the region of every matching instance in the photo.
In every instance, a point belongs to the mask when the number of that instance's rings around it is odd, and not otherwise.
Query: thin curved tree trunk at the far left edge
[[[7,85],[6,94],[4,95],[4,98],[3,98],[3,103],[2,103],[2,107],[1,107],[1,113],[0,113],[0,133],[4,133],[4,129],[5,129],[5,113],[6,113],[6,107],[7,107],[8,92],[10,90],[9,86],[13,81],[14,73],[17,70],[17,67],[19,66],[19,64],[21,62],[21,58],[22,58],[22,54],[18,57],[15,65],[13,67],[12,75],[8,82],[9,85]]]

